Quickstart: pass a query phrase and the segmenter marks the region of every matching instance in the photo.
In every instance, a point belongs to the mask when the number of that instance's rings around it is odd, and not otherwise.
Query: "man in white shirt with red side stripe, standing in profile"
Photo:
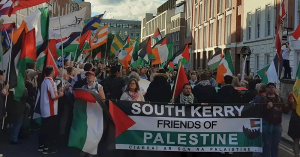
[[[64,89],[57,91],[53,81],[55,71],[53,66],[48,65],[44,69],[46,75],[41,85],[41,116],[42,125],[39,135],[38,151],[43,154],[56,153],[56,139],[58,135],[57,109],[58,99],[64,96]],[[48,150],[49,149],[49,150]]]

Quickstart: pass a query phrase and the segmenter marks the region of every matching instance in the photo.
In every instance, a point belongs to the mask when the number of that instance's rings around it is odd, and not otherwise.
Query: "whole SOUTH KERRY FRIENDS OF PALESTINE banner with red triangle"
[[[262,152],[261,111],[257,104],[110,101],[123,150]]]

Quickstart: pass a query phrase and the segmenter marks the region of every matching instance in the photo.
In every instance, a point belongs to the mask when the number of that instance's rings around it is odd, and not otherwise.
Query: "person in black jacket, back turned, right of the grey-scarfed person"
[[[220,88],[217,93],[218,103],[240,103],[241,95],[238,91],[231,85],[232,76],[224,76],[225,86]]]

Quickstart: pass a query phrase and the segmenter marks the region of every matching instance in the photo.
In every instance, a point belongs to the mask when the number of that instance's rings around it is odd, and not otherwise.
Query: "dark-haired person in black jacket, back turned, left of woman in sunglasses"
[[[110,68],[111,75],[101,81],[106,99],[120,100],[123,94],[123,87],[125,87],[125,81],[121,74],[121,68],[118,65],[114,65]]]

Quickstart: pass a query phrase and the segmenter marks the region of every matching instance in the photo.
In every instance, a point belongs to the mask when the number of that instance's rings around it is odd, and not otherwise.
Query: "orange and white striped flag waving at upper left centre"
[[[104,27],[102,27],[97,31],[95,36],[90,41],[91,48],[85,48],[83,53],[91,51],[105,44],[107,42],[107,39],[108,39],[108,24],[106,24]]]

